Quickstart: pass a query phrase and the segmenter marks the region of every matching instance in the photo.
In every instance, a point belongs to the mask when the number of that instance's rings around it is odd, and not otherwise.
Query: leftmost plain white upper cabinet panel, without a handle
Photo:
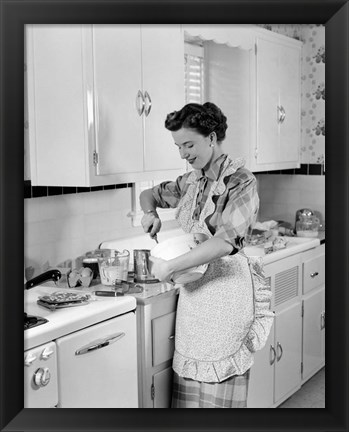
[[[88,146],[79,25],[28,25],[27,98],[32,185],[85,182]]]

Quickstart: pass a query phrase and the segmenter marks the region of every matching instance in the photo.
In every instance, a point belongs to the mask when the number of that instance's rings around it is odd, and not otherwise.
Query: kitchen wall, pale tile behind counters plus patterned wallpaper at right
[[[261,221],[294,222],[302,207],[317,210],[325,219],[325,31],[318,25],[263,24],[265,28],[303,40],[302,62],[302,166],[298,173],[257,174]],[[25,123],[25,179],[30,179]],[[318,169],[316,169],[318,168]],[[318,174],[317,174],[318,173]],[[53,188],[32,188],[25,182],[24,257],[29,279],[49,266],[75,266],[75,260],[110,239],[142,235],[128,216],[132,210],[131,185],[73,193]],[[72,191],[69,191],[72,192]],[[164,222],[163,229],[177,227]]]

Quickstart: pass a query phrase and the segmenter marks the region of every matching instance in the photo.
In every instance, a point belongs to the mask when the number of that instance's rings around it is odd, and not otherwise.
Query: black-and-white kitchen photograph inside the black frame
[[[147,22],[23,23],[28,427],[104,409],[130,424],[201,415],[176,408],[326,415],[340,376],[333,191],[348,186],[332,180],[328,26]]]

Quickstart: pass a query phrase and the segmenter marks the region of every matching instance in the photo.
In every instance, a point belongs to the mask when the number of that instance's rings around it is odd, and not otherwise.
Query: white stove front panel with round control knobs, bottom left
[[[57,347],[49,342],[24,352],[24,408],[57,404]]]

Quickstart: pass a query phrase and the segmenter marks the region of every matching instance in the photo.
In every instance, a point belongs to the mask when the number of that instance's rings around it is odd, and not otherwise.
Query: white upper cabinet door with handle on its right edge
[[[141,31],[139,25],[94,25],[97,175],[143,170]]]

